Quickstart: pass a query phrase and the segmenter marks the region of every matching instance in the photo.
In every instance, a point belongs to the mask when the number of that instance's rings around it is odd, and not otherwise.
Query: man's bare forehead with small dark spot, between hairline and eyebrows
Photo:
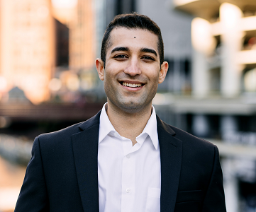
[[[114,28],[110,34],[107,54],[115,47],[129,47],[129,49],[150,48],[158,52],[157,41],[157,35],[148,30]]]

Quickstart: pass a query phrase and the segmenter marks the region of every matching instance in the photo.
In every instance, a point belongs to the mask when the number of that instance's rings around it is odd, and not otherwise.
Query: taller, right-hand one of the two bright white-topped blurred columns
[[[240,93],[241,66],[238,64],[238,52],[242,48],[243,32],[237,27],[243,16],[238,6],[223,3],[220,18],[223,30],[221,35],[221,93],[232,98]]]

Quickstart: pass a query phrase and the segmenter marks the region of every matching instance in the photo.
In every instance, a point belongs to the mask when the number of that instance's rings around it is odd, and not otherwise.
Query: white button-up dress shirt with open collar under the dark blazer
[[[105,104],[106,105],[106,104]],[[160,212],[160,148],[155,108],[133,146],[106,114],[99,123],[99,212]]]

